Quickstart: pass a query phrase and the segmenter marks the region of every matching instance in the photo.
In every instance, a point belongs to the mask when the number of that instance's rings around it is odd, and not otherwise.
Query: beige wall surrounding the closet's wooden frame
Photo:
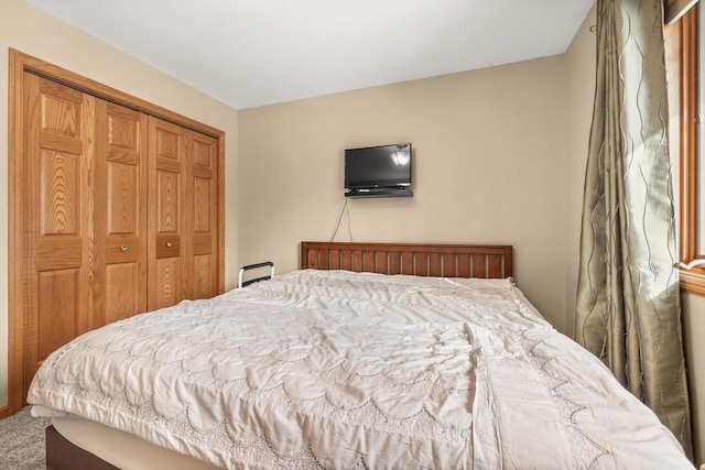
[[[226,284],[237,283],[237,111],[22,0],[0,14],[0,188],[8,187],[8,48],[17,48],[226,132]],[[8,196],[0,195],[0,252],[8,252]],[[0,256],[0,407],[7,404],[8,264]]]

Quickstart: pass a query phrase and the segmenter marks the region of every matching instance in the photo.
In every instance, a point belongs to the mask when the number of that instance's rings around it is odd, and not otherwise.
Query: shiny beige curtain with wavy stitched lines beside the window
[[[597,0],[575,338],[691,456],[668,117],[663,0]]]

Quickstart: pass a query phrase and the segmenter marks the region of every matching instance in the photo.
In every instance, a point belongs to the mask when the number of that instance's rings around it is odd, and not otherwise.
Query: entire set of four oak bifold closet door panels
[[[10,413],[78,335],[224,288],[221,134],[42,74],[17,81]]]

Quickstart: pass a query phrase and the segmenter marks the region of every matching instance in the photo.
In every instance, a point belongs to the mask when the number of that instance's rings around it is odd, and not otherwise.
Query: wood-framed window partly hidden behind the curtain
[[[701,160],[699,109],[701,92],[698,51],[705,42],[697,24],[705,9],[692,8],[676,23],[666,26],[666,68],[672,107],[671,149],[680,154],[677,179],[680,198],[676,211],[680,220],[681,261],[692,269],[681,269],[681,287],[705,295],[705,165]],[[705,24],[705,23],[704,23]],[[703,62],[705,63],[705,62]],[[679,139],[680,136],[680,139]],[[705,156],[705,155],[704,155]],[[702,261],[701,261],[702,260]],[[703,263],[698,265],[698,263]]]

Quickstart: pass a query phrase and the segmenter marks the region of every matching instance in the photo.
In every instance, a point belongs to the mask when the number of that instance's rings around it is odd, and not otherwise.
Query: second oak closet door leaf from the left
[[[147,310],[147,119],[96,103],[94,327]]]

